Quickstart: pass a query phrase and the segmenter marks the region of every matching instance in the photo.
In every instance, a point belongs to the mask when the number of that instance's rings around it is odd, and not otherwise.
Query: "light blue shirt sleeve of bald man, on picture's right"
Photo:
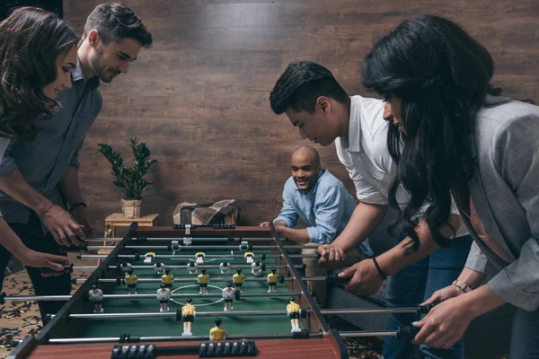
[[[316,194],[314,215],[316,225],[307,227],[309,240],[312,242],[329,244],[337,236],[339,225],[344,214],[344,201],[339,186],[331,186],[323,193]]]

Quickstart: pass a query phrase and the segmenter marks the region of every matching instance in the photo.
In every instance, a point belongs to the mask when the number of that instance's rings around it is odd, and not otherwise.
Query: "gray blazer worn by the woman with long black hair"
[[[485,229],[516,260],[507,263],[477,238],[466,266],[499,272],[488,285],[503,301],[526,311],[539,308],[539,107],[487,97],[473,142],[479,171],[470,195]]]

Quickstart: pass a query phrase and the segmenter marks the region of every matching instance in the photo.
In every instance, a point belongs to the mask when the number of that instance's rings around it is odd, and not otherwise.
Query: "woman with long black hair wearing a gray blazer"
[[[517,306],[509,357],[537,358],[539,108],[498,97],[493,73],[486,48],[455,22],[429,15],[380,39],[362,70],[394,125],[390,202],[400,185],[411,195],[395,225],[417,248],[412,219],[427,201],[432,238],[450,245],[439,230],[454,197],[474,239],[462,274],[427,301],[440,303],[417,324],[415,341],[448,348],[473,318],[508,302]],[[499,273],[482,285],[488,267]]]

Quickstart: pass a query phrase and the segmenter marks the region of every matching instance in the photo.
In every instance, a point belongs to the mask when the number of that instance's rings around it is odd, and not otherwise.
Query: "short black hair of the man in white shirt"
[[[277,115],[288,108],[313,114],[316,99],[320,96],[341,103],[346,103],[349,97],[331,71],[324,66],[310,61],[292,63],[280,75],[270,93],[271,109]]]

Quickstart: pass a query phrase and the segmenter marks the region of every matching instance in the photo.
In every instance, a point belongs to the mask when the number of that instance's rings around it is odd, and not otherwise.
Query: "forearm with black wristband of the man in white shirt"
[[[455,227],[456,224],[460,223],[460,217],[458,215],[451,215],[449,223]],[[418,224],[416,231],[420,239],[419,250],[411,251],[411,238],[407,237],[401,241],[401,243],[393,247],[393,249],[384,252],[376,258],[386,276],[397,273],[402,268],[410,266],[437,250],[438,245],[436,241],[432,239],[429,226],[425,221],[421,221],[420,224]],[[440,232],[446,238],[453,235],[453,230],[449,225],[444,226]]]

